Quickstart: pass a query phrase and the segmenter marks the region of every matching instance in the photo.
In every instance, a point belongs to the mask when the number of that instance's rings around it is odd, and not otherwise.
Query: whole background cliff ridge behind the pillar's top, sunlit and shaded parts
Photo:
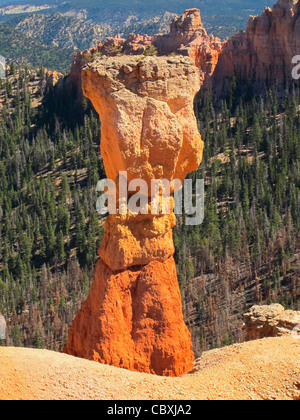
[[[223,43],[208,35],[199,9],[188,9],[175,17],[166,35],[135,35],[107,38],[90,51],[75,55],[69,80],[81,92],[80,73],[85,60],[94,54],[105,56],[142,55],[155,47],[158,55],[189,56],[198,67],[201,85],[219,96],[226,93],[233,73],[241,88],[248,84],[255,92],[276,86],[289,88],[295,80],[292,58],[300,54],[300,1],[279,0],[262,15],[250,16],[245,31]]]

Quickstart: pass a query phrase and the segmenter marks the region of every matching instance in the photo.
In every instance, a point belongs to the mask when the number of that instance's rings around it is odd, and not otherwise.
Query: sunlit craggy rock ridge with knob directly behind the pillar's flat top
[[[120,35],[109,37],[104,44],[99,44],[74,57],[70,71],[70,81],[78,84],[81,69],[86,60],[92,60],[95,55],[117,57],[120,55],[151,54],[151,48],[156,48],[157,54],[183,55],[192,58],[200,72],[201,84],[209,79],[218,63],[222,50],[222,42],[213,35],[208,35],[204,29],[200,10],[188,9],[181,16],[174,18],[167,35],[155,36],[130,34],[127,39]],[[150,48],[150,50],[149,50]],[[148,51],[149,50],[149,51]]]

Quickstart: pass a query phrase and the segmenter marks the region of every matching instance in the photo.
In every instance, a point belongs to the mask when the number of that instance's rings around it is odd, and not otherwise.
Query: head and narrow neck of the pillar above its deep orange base
[[[198,168],[203,142],[193,98],[200,80],[189,58],[99,58],[87,66],[82,83],[100,115],[106,175],[117,186],[119,171],[126,171],[127,182],[143,179],[151,196],[151,180],[183,181]],[[111,215],[99,255],[114,270],[165,261],[174,253],[175,223],[172,212]]]

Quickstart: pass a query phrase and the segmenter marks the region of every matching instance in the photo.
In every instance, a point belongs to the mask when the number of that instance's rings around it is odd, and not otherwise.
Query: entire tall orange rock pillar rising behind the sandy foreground
[[[152,179],[183,181],[201,163],[193,109],[200,75],[190,58],[98,58],[83,69],[82,87],[99,113],[101,154],[117,186],[127,171],[128,182],[146,181],[150,202]],[[181,376],[194,354],[173,259],[175,215],[117,213],[105,223],[94,282],[65,352]]]

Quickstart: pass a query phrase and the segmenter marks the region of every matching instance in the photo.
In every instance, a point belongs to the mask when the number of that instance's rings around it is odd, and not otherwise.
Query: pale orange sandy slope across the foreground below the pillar
[[[48,350],[0,348],[0,400],[300,399],[300,340],[204,353],[181,378],[129,372]]]

